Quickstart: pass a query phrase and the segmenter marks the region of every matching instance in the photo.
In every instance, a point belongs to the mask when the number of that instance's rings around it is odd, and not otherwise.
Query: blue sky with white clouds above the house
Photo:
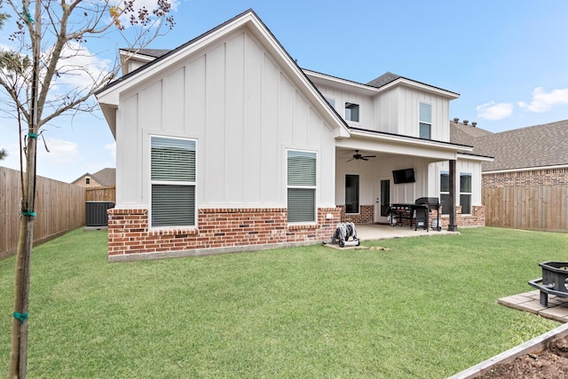
[[[179,0],[176,28],[150,47],[173,49],[248,8],[300,67],[360,83],[390,71],[457,92],[451,118],[494,132],[568,119],[565,0]],[[122,46],[118,35],[97,43]],[[40,146],[38,175],[69,182],[115,165],[100,113],[60,118],[43,136],[51,153]],[[17,144],[17,126],[0,118],[0,148],[10,154],[1,165],[19,167]]]

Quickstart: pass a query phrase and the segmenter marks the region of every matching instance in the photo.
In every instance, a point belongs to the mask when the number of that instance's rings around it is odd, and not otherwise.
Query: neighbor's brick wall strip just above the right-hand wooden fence
[[[482,175],[482,186],[553,186],[568,185],[568,168],[498,172]]]

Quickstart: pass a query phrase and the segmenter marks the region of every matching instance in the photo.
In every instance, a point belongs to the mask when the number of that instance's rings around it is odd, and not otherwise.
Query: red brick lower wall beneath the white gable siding
[[[327,219],[327,214],[333,218]],[[329,240],[339,208],[318,209],[316,225],[288,225],[288,210],[199,209],[198,227],[150,230],[147,209],[108,209],[108,260],[185,257]]]

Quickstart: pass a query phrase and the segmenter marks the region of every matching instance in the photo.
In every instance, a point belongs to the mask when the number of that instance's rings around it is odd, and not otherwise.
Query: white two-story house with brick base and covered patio
[[[111,261],[327,240],[420,197],[450,229],[484,225],[489,158],[449,142],[452,91],[303,70],[252,10],[173,51],[121,53],[97,94],[117,146]]]

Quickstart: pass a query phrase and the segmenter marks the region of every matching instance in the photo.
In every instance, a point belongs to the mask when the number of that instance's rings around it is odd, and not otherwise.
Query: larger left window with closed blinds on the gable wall
[[[195,225],[195,141],[150,139],[151,226]]]

